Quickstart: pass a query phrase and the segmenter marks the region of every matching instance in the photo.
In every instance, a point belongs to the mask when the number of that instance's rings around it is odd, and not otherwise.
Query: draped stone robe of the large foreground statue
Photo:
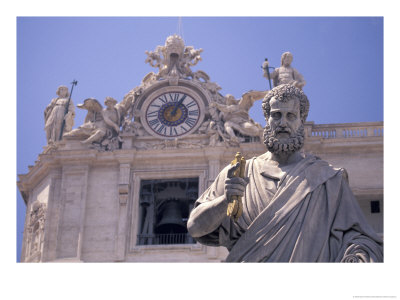
[[[196,238],[225,246],[228,262],[379,262],[382,240],[367,223],[344,169],[308,155],[285,171],[268,153],[247,161],[243,215]],[[224,195],[226,167],[195,207]]]

